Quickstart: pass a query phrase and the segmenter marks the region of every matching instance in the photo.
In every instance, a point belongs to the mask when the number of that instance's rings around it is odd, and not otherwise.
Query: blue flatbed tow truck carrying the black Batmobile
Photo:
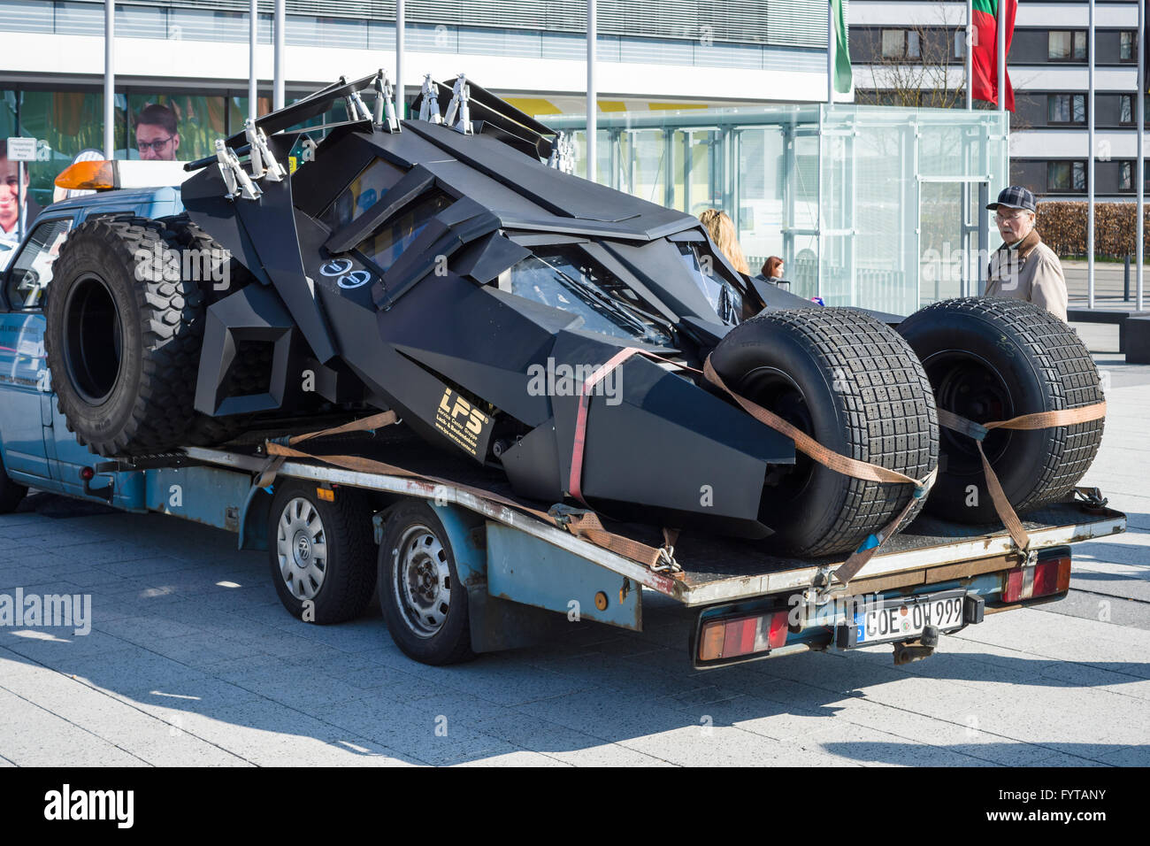
[[[241,549],[266,550],[277,593],[301,625],[361,613],[377,592],[396,643],[443,664],[561,637],[570,619],[641,631],[646,588],[698,609],[689,656],[699,669],[875,643],[894,645],[904,663],[984,615],[1065,596],[1070,544],[1126,528],[1101,498],[1076,497],[1026,515],[1025,554],[1002,526],[919,517],[844,586],[833,578],[842,558],[787,558],[702,535],[641,563],[568,531],[565,519],[514,508],[494,489],[486,495],[490,478],[401,426],[338,436],[337,448],[323,450],[370,455],[393,472],[292,458],[277,463],[273,478],[266,444],[277,433],[222,449],[101,459],[76,442],[52,390],[43,314],[52,261],[93,215],[181,211],[178,185],[64,200],[37,218],[8,262],[0,284],[0,513],[34,488],[236,532]]]

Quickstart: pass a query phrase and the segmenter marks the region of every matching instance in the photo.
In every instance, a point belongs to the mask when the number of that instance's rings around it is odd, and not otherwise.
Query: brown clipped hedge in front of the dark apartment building
[[[1038,203],[1038,235],[1061,258],[1086,256],[1087,203],[1044,200]],[[1134,256],[1136,203],[1094,204],[1094,254],[1122,258]],[[1150,204],[1142,208],[1144,236],[1150,233]],[[1150,251],[1147,252],[1150,256]]]

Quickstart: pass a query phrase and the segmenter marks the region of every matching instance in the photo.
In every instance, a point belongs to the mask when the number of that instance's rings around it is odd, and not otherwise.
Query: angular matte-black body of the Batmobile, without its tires
[[[362,83],[258,125],[283,130]],[[446,104],[452,89],[437,91]],[[190,216],[254,277],[208,311],[197,410],[291,412],[288,368],[302,356],[461,459],[503,467],[523,496],[770,534],[762,488],[793,443],[696,371],[764,295],[805,300],[760,294],[695,218],[544,163],[555,134],[478,86],[471,98],[469,124],[337,128],[285,178],[253,174],[256,196],[229,190],[223,158],[194,163]],[[294,138],[268,148],[286,160]],[[248,150],[243,135],[227,147]],[[229,396],[248,341],[271,344],[273,379]],[[600,369],[628,348],[664,360]]]

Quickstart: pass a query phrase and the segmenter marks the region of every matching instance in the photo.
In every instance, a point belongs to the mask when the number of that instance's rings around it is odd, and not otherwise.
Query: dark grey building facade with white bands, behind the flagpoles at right
[[[1095,5],[1095,195],[1137,190],[1137,0]],[[854,0],[851,60],[860,102],[963,107],[965,0]],[[1089,160],[1088,5],[1018,5],[1007,68],[1014,87],[1011,181],[1050,199],[1083,198]],[[977,105],[977,104],[976,104]],[[984,105],[984,104],[983,104]]]

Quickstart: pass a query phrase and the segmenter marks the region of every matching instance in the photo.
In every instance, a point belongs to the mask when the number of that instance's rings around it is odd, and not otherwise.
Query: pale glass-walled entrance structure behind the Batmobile
[[[585,173],[586,119],[545,121],[574,135]],[[752,270],[779,256],[796,294],[910,314],[984,284],[1009,131],[1006,113],[838,104],[603,113],[596,178],[722,208]]]

